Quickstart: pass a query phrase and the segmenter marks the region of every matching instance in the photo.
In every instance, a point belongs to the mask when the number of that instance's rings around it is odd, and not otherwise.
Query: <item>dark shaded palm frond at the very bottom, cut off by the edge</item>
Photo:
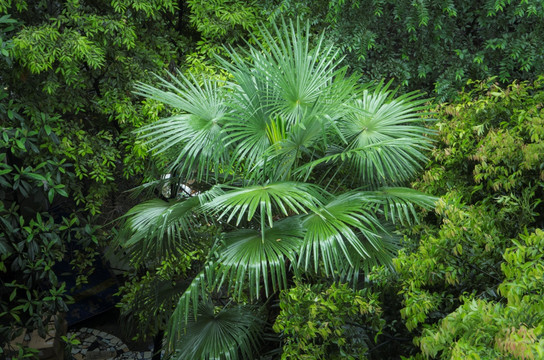
[[[201,303],[196,319],[189,320],[185,334],[176,343],[172,359],[253,359],[262,324],[254,307],[238,305],[218,310],[211,302]]]

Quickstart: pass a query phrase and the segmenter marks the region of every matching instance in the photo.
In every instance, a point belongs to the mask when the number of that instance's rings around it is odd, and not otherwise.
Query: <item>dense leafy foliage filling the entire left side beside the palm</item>
[[[176,9],[168,0],[0,3],[9,14],[0,17],[2,346],[25,328],[43,333],[66,310],[72,289],[55,263],[70,262],[84,283],[108,236],[99,226],[128,206],[117,194],[143,176],[147,156],[131,131],[161,111],[136,100],[133,82],[177,59]]]

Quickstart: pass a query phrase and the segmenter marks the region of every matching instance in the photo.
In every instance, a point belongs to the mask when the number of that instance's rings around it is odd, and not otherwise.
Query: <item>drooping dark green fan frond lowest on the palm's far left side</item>
[[[200,206],[197,197],[181,201],[153,199],[136,205],[123,217],[125,223],[117,236],[121,246],[134,247],[136,257],[164,258],[179,251],[190,238],[194,211]],[[138,255],[139,254],[139,255]]]

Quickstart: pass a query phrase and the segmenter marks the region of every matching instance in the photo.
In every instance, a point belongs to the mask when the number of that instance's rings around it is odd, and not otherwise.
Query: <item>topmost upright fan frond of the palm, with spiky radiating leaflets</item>
[[[251,74],[255,83],[264,84],[266,88],[257,89],[266,89],[262,105],[272,108],[288,126],[323,112],[338,113],[338,105],[352,96],[356,79],[338,81],[345,75],[339,67],[342,59],[332,46],[324,45],[324,36],[311,48],[308,26],[284,22],[281,27],[274,25],[273,33],[265,27],[260,30],[262,40],[254,38],[248,52],[230,51],[232,63],[220,59],[236,81],[247,83],[244,78]]]

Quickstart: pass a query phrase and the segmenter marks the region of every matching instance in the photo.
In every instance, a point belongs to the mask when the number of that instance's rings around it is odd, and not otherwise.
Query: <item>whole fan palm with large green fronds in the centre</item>
[[[175,184],[199,193],[137,205],[122,244],[161,258],[202,241],[202,224],[222,229],[172,315],[168,344],[179,358],[248,357],[258,327],[232,304],[266,299],[293,274],[356,282],[394,256],[391,225],[416,221],[416,206],[433,203],[402,187],[429,147],[420,95],[360,85],[323,36],[311,44],[308,26],[261,31],[249,50],[220,59],[227,80],[179,73],[137,86],[174,112],[141,128],[142,139]],[[233,302],[214,310],[214,292]],[[200,344],[191,349],[188,327]],[[195,328],[208,335],[194,342]]]

